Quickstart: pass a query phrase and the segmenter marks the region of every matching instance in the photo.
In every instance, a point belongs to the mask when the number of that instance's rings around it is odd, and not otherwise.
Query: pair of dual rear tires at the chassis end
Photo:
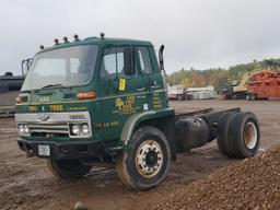
[[[218,125],[218,147],[229,158],[254,156],[259,149],[260,131],[250,113],[224,113]]]

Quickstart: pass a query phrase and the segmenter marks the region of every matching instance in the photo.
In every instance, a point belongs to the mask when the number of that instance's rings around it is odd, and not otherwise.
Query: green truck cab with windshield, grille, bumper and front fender
[[[77,36],[35,55],[15,114],[19,147],[46,158],[51,171],[61,163],[114,161],[143,125],[165,132],[165,143],[174,144],[174,117],[150,42]],[[84,168],[58,171],[73,178]]]

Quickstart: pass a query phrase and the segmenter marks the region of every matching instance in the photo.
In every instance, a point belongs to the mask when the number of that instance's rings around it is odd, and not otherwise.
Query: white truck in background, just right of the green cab
[[[192,100],[192,95],[187,92],[180,84],[167,85],[168,100],[185,101]]]

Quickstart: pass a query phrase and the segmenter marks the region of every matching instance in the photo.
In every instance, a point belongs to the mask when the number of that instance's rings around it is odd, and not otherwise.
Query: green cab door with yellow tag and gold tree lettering
[[[142,83],[135,70],[131,46],[105,48],[100,68],[102,139],[117,140],[128,117],[142,112],[148,104]]]

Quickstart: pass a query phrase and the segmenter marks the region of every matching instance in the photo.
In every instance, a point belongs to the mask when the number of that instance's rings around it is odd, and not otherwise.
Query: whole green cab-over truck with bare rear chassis
[[[253,113],[175,114],[163,49],[158,62],[150,42],[104,34],[40,46],[16,98],[20,149],[66,179],[114,163],[121,182],[139,190],[159,185],[178,152],[214,139],[229,158],[255,155],[260,135]]]

